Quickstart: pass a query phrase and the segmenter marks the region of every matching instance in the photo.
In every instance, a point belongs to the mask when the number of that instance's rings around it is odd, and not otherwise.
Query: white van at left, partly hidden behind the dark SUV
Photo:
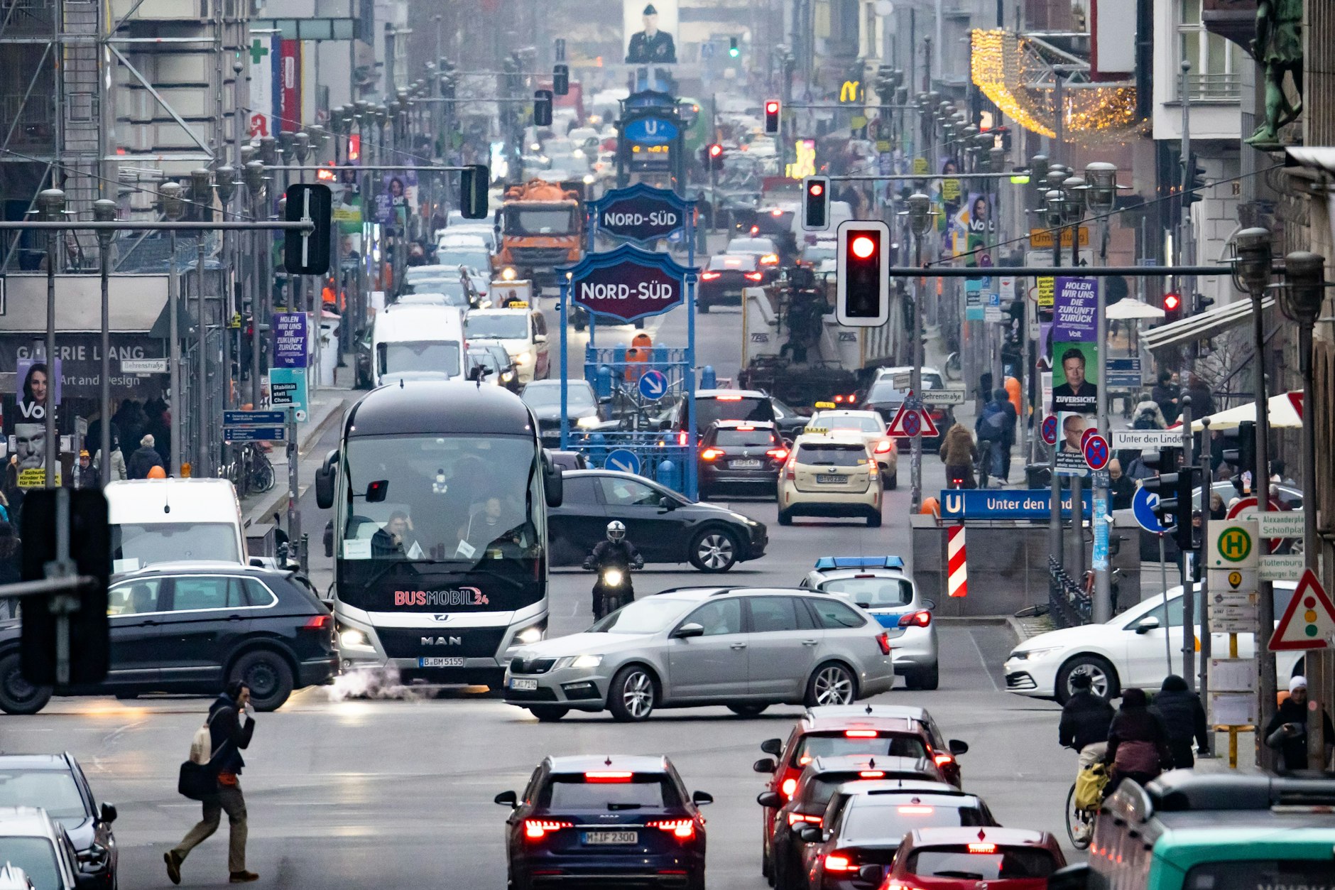
[[[180,560],[247,561],[242,505],[226,478],[136,478],[107,485],[113,572]]]

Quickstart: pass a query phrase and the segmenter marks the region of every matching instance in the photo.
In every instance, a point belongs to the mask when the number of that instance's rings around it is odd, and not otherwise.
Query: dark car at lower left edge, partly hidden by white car
[[[97,804],[72,754],[0,755],[0,807],[40,807],[75,847],[79,890],[115,890],[116,807]]]

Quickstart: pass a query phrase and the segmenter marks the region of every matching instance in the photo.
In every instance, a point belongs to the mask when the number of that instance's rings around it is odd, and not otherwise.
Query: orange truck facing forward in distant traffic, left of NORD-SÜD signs
[[[535,286],[557,282],[557,266],[583,257],[583,196],[570,183],[531,179],[506,188],[501,206],[498,271]]]

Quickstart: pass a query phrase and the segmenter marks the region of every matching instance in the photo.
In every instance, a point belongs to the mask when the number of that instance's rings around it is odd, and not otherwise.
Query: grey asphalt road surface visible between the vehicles
[[[545,301],[546,302],[546,301]],[[659,342],[684,342],[677,311],[658,327]],[[722,310],[697,327],[700,361],[721,377],[736,374],[740,315]],[[599,331],[613,337],[630,331]],[[678,335],[681,339],[678,341]],[[611,342],[617,342],[613,339]],[[302,473],[334,446],[331,429],[310,449]],[[904,458],[905,469],[908,458]],[[943,481],[925,461],[926,489]],[[905,472],[901,478],[906,480]],[[908,553],[906,486],[886,493],[885,525],[809,520],[776,523],[766,501],[730,505],[765,521],[769,555],[726,575],[729,583],[793,584],[817,556]],[[300,498],[312,540],[311,571],[323,588],[330,561],[320,531],[327,514],[314,493]],[[641,593],[710,583],[689,565],[654,565],[637,576]],[[591,576],[558,571],[551,583],[554,635],[587,625]],[[941,625],[941,688],[896,690],[878,700],[932,711],[951,738],[971,744],[961,758],[968,790],[981,794],[1003,823],[1047,829],[1064,839],[1063,806],[1075,755],[1056,744],[1059,710],[1003,691],[1001,661],[1015,643],[1000,624]],[[259,886],[282,890],[344,887],[495,889],[505,885],[506,810],[491,799],[518,790],[549,754],[668,754],[690,788],[714,795],[709,819],[709,886],[765,887],[760,877],[762,778],[750,764],[760,743],[788,734],[800,708],[774,707],[742,719],[724,708],[659,711],[646,724],[606,715],[539,724],[479,690],[409,690],[391,699],[343,698],[342,686],[306,690],[275,714],[259,715],[242,776],[250,811],[250,858]],[[95,794],[117,804],[121,887],[168,887],[162,857],[198,818],[199,804],[175,792],[176,768],[207,708],[206,699],[56,699],[36,716],[0,719],[5,751],[73,752]],[[226,825],[184,866],[186,886],[227,879]]]

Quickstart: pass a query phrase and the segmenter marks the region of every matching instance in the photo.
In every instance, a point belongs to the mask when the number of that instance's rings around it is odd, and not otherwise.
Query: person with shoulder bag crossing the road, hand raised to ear
[[[191,829],[180,843],[163,854],[167,877],[180,883],[180,863],[190,851],[218,831],[223,811],[227,812],[230,838],[227,870],[231,883],[258,881],[259,875],[246,870],[246,798],[242,796],[240,774],[246,760],[240,750],[250,747],[255,734],[255,708],[250,703],[250,690],[234,680],[208,708],[208,735],[214,746],[211,763],[218,770],[218,794],[204,798],[204,818]]]

